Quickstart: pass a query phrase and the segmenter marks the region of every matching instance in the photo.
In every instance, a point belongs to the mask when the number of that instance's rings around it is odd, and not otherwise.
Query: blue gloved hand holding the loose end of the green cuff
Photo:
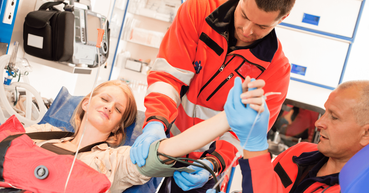
[[[211,164],[211,162],[206,159],[198,159],[197,161],[205,163],[212,170],[214,169],[213,164]],[[176,181],[177,185],[182,188],[183,191],[202,187],[209,180],[210,172],[208,172],[208,170],[199,168],[197,166],[188,166],[187,168],[196,170],[196,172],[187,173],[175,171],[173,175],[173,178]]]

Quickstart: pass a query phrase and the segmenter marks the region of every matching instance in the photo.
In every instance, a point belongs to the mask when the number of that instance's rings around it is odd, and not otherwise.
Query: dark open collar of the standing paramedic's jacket
[[[223,35],[228,41],[228,26],[231,24],[234,17],[239,0],[228,0],[216,8],[210,15],[205,18],[205,21],[213,30]],[[273,29],[268,35],[259,41],[255,48],[250,49],[250,52],[259,60],[271,62],[278,49],[278,39]],[[266,67],[266,66],[265,66]]]

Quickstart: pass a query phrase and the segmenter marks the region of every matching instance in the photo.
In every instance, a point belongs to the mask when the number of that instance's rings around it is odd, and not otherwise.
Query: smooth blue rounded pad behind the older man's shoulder
[[[369,145],[362,148],[339,172],[342,193],[366,192],[369,189]]]

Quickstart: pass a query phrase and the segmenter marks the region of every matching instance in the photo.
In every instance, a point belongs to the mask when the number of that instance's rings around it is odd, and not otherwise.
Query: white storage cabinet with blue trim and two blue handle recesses
[[[296,0],[276,26],[291,79],[333,90],[342,81],[362,0]]]

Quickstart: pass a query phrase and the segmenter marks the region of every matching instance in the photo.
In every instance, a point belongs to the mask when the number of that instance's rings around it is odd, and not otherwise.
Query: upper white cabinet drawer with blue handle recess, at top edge
[[[361,0],[296,0],[283,23],[352,37]]]

